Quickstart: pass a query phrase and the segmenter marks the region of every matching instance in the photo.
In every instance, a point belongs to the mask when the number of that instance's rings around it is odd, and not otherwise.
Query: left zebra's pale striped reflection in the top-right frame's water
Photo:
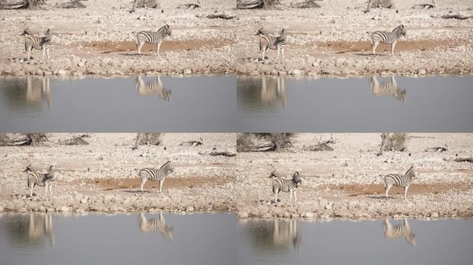
[[[284,77],[261,77],[261,103],[274,104],[281,101],[286,107],[286,82]]]

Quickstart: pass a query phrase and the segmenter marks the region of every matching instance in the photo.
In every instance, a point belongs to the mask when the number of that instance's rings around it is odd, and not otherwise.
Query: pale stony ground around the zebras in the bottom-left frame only
[[[228,210],[232,202],[235,157],[205,155],[213,148],[234,152],[234,134],[165,134],[163,146],[140,146],[132,150],[136,134],[93,134],[89,145],[58,146],[67,133],[50,134],[49,143],[38,147],[0,147],[0,208],[7,210],[131,211]],[[204,146],[180,146],[183,141],[202,138]],[[166,150],[164,149],[166,148]],[[201,155],[199,153],[203,153]],[[140,192],[138,170],[159,167],[167,160],[175,170],[165,180],[163,193],[158,182],[147,181]],[[57,168],[53,197],[45,200],[44,188],[26,199],[25,166]]]

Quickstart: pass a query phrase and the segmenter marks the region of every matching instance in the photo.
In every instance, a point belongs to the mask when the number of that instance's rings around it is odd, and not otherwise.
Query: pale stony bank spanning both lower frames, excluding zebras
[[[87,146],[57,146],[68,134],[51,134],[50,143],[37,147],[0,147],[0,210],[6,211],[135,211],[231,210],[239,217],[437,217],[473,215],[473,165],[455,162],[473,157],[472,134],[411,134],[408,152],[387,152],[378,157],[378,134],[334,134],[333,151],[303,151],[318,134],[299,134],[286,153],[238,153],[236,157],[205,155],[213,148],[234,152],[236,134],[165,134],[163,146],[131,150],[133,134],[93,134]],[[204,146],[180,146],[202,137]],[[322,139],[328,139],[328,134]],[[425,148],[444,146],[446,153]],[[164,150],[166,147],[166,150]],[[409,153],[411,155],[409,155]],[[201,155],[204,154],[204,155]],[[148,181],[139,191],[138,170],[171,160],[175,173],[158,193]],[[44,188],[27,198],[25,166],[59,170],[54,195],[46,200]],[[382,176],[404,173],[416,165],[418,177],[402,199],[392,188],[384,198]],[[291,175],[298,170],[303,183],[298,201],[288,193],[270,202],[269,173]]]

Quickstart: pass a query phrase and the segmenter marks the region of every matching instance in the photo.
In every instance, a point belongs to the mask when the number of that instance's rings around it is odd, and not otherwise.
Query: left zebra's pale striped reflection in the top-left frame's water
[[[26,103],[39,105],[43,100],[48,102],[48,108],[52,105],[51,90],[48,77],[26,78]]]

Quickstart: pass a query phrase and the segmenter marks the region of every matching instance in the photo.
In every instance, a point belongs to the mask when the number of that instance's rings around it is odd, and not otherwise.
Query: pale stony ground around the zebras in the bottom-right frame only
[[[301,151],[316,144],[320,134],[299,134],[288,153],[239,153],[234,203],[241,217],[376,217],[376,216],[471,216],[473,214],[473,165],[455,162],[472,157],[471,134],[411,134],[407,152],[379,151],[379,134],[334,134],[333,151]],[[330,134],[322,135],[328,140]],[[447,153],[427,153],[444,146]],[[292,152],[291,152],[292,151]],[[409,155],[410,154],[410,155]],[[414,164],[418,177],[402,199],[402,188],[391,188],[384,198],[383,176],[400,173]],[[288,178],[302,175],[298,201],[290,204],[288,193],[273,204],[272,170]]]

